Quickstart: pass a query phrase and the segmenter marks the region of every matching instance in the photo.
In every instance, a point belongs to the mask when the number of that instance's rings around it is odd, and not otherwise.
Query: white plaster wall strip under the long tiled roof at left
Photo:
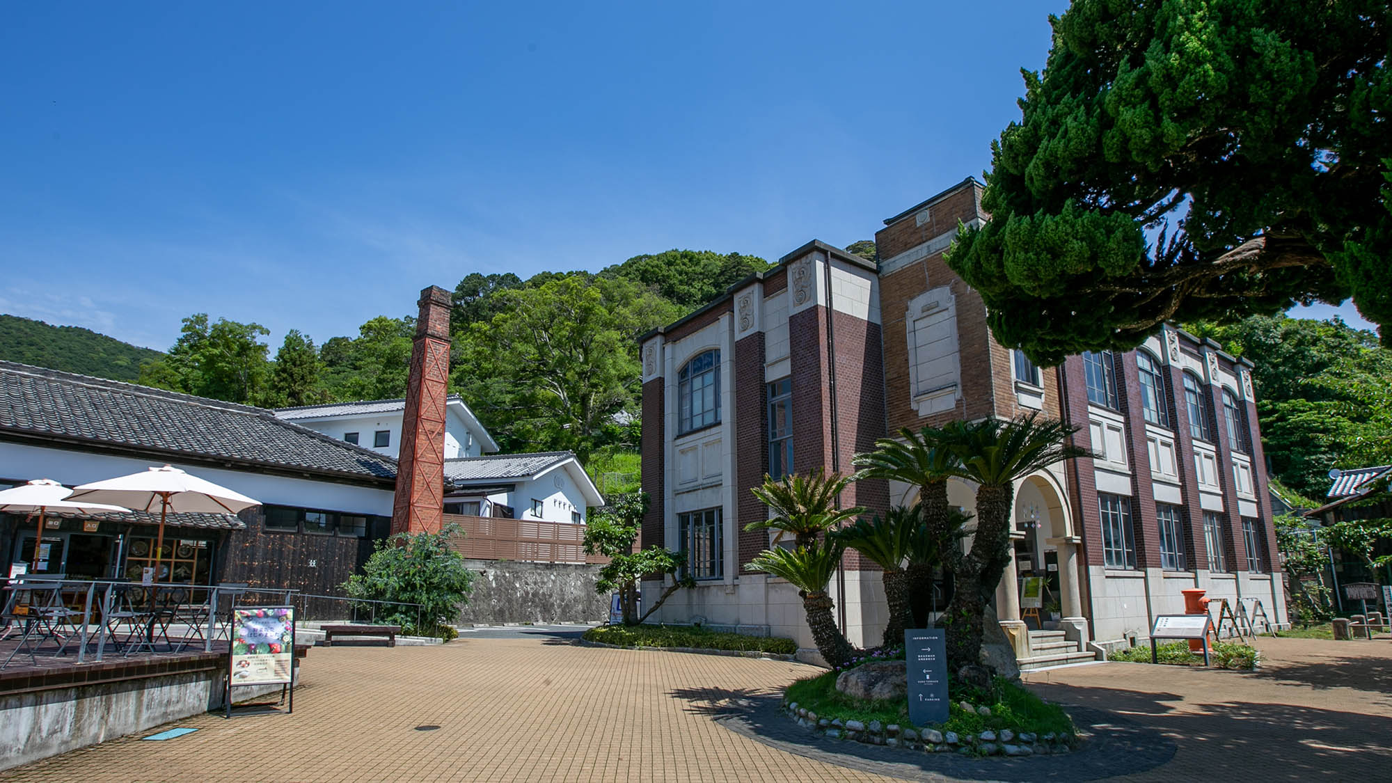
[[[68,451],[19,443],[0,443],[0,476],[29,481],[52,478],[53,481],[77,485],[92,481],[134,474],[150,467],[159,467],[157,460],[135,460],[90,451]],[[274,476],[242,472],[226,468],[207,468],[173,463],[175,468],[199,478],[235,489],[262,503],[302,506],[326,511],[349,511],[358,514],[391,515],[391,489],[376,489],[312,481],[302,478]]]

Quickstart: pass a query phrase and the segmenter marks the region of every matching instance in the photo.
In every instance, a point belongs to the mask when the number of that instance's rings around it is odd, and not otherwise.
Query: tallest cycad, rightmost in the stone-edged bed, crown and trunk
[[[942,444],[956,454],[958,475],[980,485],[976,536],[972,550],[955,568],[956,591],[944,617],[951,670],[979,665],[983,612],[1011,557],[1015,482],[1054,463],[1089,456],[1086,449],[1068,442],[1076,429],[1040,419],[1038,414],[1012,421],[954,422],[944,428]]]

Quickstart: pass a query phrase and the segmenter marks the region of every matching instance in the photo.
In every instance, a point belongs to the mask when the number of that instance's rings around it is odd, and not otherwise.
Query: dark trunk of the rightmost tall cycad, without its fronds
[[[949,672],[981,663],[981,616],[1009,560],[1012,495],[1012,485],[984,483],[976,490],[976,538],[956,568],[956,591],[942,620]]]

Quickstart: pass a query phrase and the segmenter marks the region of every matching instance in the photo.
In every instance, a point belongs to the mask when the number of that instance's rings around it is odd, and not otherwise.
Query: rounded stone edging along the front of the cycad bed
[[[969,706],[962,702],[963,706]],[[986,711],[987,708],[980,708]],[[962,752],[972,755],[1054,755],[1069,754],[1076,748],[1077,740],[1069,744],[1065,738],[1057,738],[1054,733],[1036,736],[1030,731],[1015,731],[1012,729],[987,729],[980,734],[958,734],[956,731],[938,731],[937,729],[903,729],[898,723],[885,726],[878,720],[862,723],[860,720],[841,720],[818,718],[816,712],[796,702],[784,708],[788,718],[803,729],[810,729],[830,740],[851,740],[867,745],[885,745],[888,748],[903,748],[908,751],[924,751],[930,754]],[[990,711],[980,715],[990,716]]]

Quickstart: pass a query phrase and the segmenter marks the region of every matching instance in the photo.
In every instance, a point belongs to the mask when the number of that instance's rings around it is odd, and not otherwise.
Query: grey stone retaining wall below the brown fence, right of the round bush
[[[608,617],[608,596],[594,592],[599,566],[468,560],[479,574],[461,623],[565,623]]]

